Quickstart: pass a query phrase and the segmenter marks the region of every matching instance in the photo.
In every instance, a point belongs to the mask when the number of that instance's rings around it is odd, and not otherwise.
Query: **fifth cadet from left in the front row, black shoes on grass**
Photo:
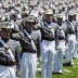
[[[76,32],[75,32],[75,26],[73,24],[73,16],[74,13],[70,11],[68,13],[68,20],[65,21],[65,29],[67,31],[67,41],[68,41],[68,51],[66,51],[66,66],[73,66],[74,65],[74,52],[75,52],[75,42],[76,42]]]

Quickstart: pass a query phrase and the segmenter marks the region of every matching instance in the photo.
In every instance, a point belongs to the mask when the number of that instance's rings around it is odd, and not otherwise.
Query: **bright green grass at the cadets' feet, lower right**
[[[63,75],[52,75],[52,78],[78,78],[78,60],[74,60],[75,64],[73,67],[63,67]],[[38,67],[40,67],[39,65]],[[41,78],[41,72],[37,73],[36,78]]]

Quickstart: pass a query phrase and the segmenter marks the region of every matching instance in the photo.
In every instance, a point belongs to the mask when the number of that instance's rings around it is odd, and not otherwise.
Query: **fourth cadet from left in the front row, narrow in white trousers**
[[[54,73],[63,73],[63,56],[65,53],[65,32],[62,28],[63,25],[63,15],[62,13],[56,17],[56,24],[58,25],[55,29],[55,40],[56,40],[56,55],[54,61]]]

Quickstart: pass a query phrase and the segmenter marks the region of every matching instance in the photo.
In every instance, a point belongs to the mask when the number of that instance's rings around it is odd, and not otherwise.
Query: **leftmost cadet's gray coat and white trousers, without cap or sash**
[[[12,51],[14,60],[0,42],[0,78],[16,78],[16,63],[18,62],[17,51],[20,51],[20,42],[12,39],[1,38]]]

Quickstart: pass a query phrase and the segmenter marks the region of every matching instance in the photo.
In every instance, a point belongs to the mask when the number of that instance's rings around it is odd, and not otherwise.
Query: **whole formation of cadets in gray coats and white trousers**
[[[73,66],[77,55],[77,9],[75,1],[1,2],[0,78],[16,78],[20,68],[22,78],[36,78],[39,57],[42,78],[62,74],[63,65]]]

